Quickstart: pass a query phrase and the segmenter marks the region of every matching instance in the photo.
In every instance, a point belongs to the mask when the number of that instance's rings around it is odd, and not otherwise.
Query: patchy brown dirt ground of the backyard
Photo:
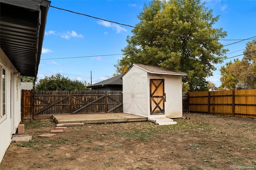
[[[11,143],[1,170],[256,170],[256,119],[184,114],[178,124],[87,124],[38,137],[52,120],[25,124],[29,143]]]

